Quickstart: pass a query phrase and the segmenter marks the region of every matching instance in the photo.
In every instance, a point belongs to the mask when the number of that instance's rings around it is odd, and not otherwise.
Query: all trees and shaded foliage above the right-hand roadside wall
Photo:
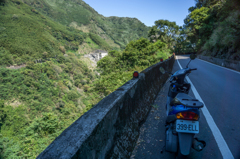
[[[203,55],[240,60],[239,10],[239,0],[196,0],[184,20],[187,41]]]

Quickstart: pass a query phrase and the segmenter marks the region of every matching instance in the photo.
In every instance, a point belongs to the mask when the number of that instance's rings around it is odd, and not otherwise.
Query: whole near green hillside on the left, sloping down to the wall
[[[97,74],[76,52],[100,46],[17,0],[0,15],[0,158],[35,158],[100,98],[86,94]]]

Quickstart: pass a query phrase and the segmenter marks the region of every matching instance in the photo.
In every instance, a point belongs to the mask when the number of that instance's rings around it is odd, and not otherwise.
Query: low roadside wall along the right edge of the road
[[[211,56],[202,56],[198,55],[199,59],[214,63],[219,66],[231,68],[237,71],[240,71],[240,61],[235,61],[235,60],[226,60],[226,59],[219,59]]]

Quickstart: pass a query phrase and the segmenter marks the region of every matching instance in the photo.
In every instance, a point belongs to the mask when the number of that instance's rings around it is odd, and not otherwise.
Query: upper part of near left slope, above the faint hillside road
[[[17,0],[0,8],[0,63],[23,64],[78,50],[82,31],[53,22]]]

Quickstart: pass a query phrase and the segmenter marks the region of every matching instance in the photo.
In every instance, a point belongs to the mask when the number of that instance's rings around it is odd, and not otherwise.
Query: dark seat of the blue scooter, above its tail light
[[[203,103],[198,101],[197,99],[185,94],[185,93],[178,93],[175,98],[170,102],[171,106],[176,105],[184,105],[186,107],[192,108],[202,108]]]

